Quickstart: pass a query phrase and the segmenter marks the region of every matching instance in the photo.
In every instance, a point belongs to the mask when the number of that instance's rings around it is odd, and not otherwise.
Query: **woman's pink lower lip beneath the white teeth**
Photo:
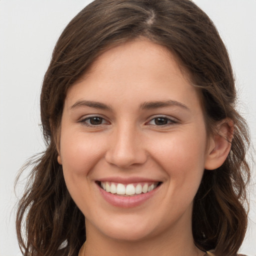
[[[156,191],[158,190],[159,186],[151,190],[150,192],[147,193],[141,193],[133,196],[121,196],[121,195],[116,195],[112,194],[110,192],[106,192],[104,189],[102,189],[100,186],[98,186],[99,191],[102,195],[102,197],[109,202],[110,204],[116,206],[116,207],[122,207],[122,208],[129,208],[129,207],[135,207],[149,198],[151,198]]]

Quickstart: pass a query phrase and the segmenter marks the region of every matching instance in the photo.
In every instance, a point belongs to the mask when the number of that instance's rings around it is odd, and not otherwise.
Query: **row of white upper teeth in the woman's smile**
[[[150,185],[148,183],[144,183],[143,186],[140,183],[137,183],[136,185],[127,184],[125,187],[122,183],[118,183],[116,185],[114,182],[101,181],[100,186],[112,194],[133,195],[150,192],[157,186],[157,183],[151,183]]]

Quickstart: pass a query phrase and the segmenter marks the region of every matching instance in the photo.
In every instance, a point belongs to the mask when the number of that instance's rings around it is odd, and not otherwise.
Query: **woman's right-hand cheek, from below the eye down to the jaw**
[[[176,215],[192,205],[203,175],[206,135],[199,134],[189,132],[173,137],[170,134],[168,140],[158,140],[154,147],[155,160],[168,175],[163,208]]]

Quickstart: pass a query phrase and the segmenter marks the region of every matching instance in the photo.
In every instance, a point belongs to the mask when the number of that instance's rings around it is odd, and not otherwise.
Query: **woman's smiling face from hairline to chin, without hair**
[[[58,161],[86,231],[190,230],[206,142],[199,95],[170,52],[145,39],[104,52],[67,91],[61,120]]]

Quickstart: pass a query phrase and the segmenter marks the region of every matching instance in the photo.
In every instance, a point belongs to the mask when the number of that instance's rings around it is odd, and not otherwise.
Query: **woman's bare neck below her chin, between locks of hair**
[[[185,230],[185,231],[184,231]],[[141,240],[123,241],[100,233],[90,223],[86,224],[86,246],[79,256],[202,256],[193,242],[191,228],[173,228]]]

